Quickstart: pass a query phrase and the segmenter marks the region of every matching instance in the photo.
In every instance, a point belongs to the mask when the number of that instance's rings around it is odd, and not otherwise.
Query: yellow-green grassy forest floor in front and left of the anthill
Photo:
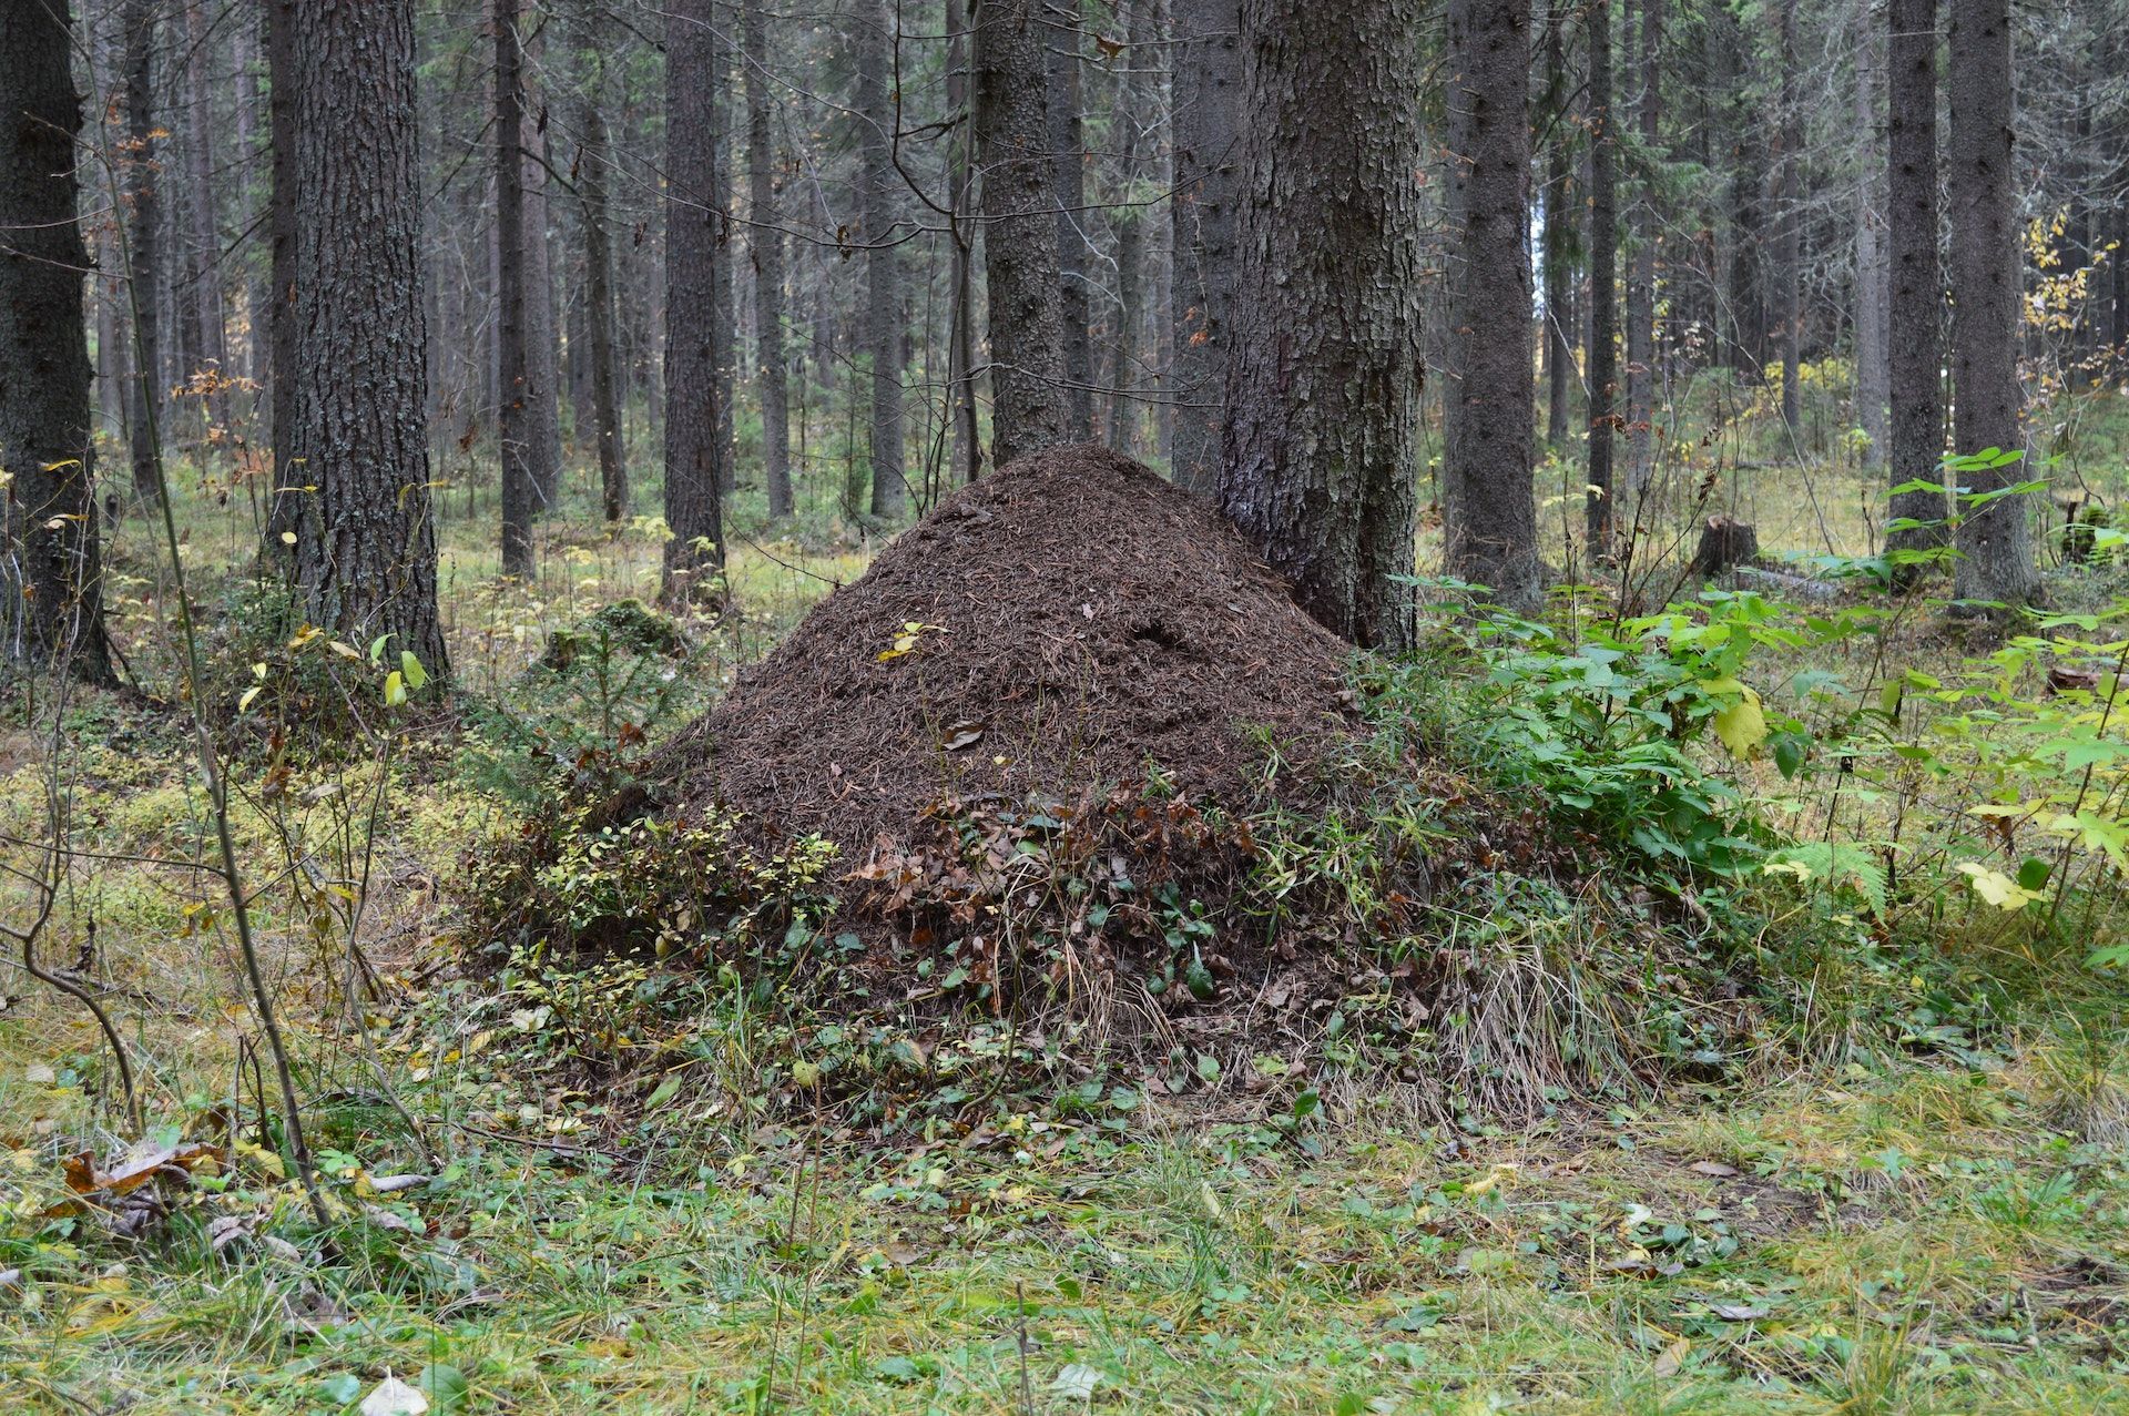
[[[194,511],[198,554],[215,515]],[[686,673],[564,681],[528,664],[645,594],[656,539],[551,532],[543,581],[496,592],[488,530],[445,517],[473,707],[273,786],[270,747],[232,728],[332,1229],[243,1141],[145,1186],[134,1237],[68,1216],[66,1158],[123,1150],[115,1082],[79,1009],[0,975],[6,1410],[417,1410],[394,1382],[466,1412],[2129,1410],[2129,1045],[2120,997],[2063,982],[2076,958],[2018,960],[2042,982],[1986,1037],[1940,1026],[1925,979],[1878,960],[1876,1043],[1514,1129],[1422,1124],[1399,1088],[1328,1071],[1305,1118],[1092,1075],[854,1135],[769,1103],[771,1022],[737,986],[626,1094],[524,1067],[513,1041],[541,1018],[451,979],[436,943],[466,852],[515,830],[551,756],[600,724],[686,722],[869,547],[735,539],[745,615],[700,626]],[[234,522],[226,543],[241,564]],[[115,560],[138,575],[138,643],[153,569]],[[273,652],[236,620],[232,701]],[[211,882],[170,865],[209,845],[185,728],[106,694],[66,711],[77,845],[104,854],[68,873],[43,948],[94,943],[143,1058],[145,1143],[185,1154],[219,1143],[232,1092],[270,1090]],[[17,711],[0,735],[13,839],[47,820],[49,730]],[[353,879],[349,920],[334,886]],[[400,997],[366,1033],[336,1024],[349,928]]]

